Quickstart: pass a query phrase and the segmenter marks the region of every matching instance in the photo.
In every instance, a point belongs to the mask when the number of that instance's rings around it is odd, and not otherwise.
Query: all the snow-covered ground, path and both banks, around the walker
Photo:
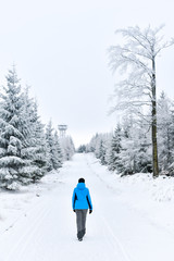
[[[79,177],[94,203],[82,243],[71,206]],[[0,261],[173,261],[173,178],[121,178],[75,154],[40,184],[0,192]]]

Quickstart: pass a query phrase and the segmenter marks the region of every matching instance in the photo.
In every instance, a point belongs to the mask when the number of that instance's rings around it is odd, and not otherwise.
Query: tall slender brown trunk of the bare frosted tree
[[[156,98],[156,63],[154,58],[152,59],[152,166],[153,166],[153,177],[159,176],[159,164],[158,164],[158,145],[157,145],[157,98]]]

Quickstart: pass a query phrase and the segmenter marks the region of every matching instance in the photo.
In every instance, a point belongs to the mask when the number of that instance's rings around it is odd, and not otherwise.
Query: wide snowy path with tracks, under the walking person
[[[99,174],[90,156],[76,154],[61,170],[62,183],[0,236],[0,261],[172,261],[174,235],[123,203],[122,191],[108,187]],[[94,203],[82,243],[71,207],[79,177],[86,178]]]

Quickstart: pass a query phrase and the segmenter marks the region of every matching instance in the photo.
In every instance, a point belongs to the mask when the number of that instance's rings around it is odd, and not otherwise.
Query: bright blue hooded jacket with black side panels
[[[85,183],[78,183],[76,188],[74,188],[72,197],[72,207],[73,210],[75,209],[92,210],[89,189],[86,187]]]

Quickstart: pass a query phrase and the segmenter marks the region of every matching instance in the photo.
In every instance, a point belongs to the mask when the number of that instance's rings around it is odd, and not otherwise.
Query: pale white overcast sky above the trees
[[[174,37],[173,0],[0,0],[0,84],[13,62],[32,86],[44,123],[67,124],[76,146],[110,132],[114,77],[107,49],[115,29],[159,26]],[[158,61],[158,88],[174,98],[174,47]]]

